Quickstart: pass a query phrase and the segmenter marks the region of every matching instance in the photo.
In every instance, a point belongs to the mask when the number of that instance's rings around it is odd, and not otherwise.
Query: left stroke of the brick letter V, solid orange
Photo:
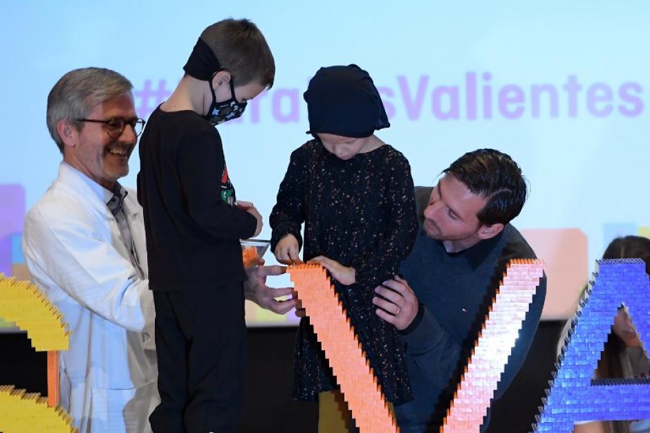
[[[353,326],[320,265],[287,272],[361,433],[399,432]]]

